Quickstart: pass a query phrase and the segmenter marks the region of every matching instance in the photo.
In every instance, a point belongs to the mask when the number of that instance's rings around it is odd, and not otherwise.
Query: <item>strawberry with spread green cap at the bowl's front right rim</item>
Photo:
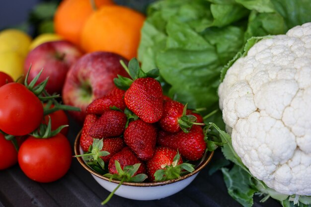
[[[180,177],[183,170],[193,172],[193,165],[183,163],[177,150],[156,147],[153,158],[147,162],[147,174],[151,181],[164,181]]]

